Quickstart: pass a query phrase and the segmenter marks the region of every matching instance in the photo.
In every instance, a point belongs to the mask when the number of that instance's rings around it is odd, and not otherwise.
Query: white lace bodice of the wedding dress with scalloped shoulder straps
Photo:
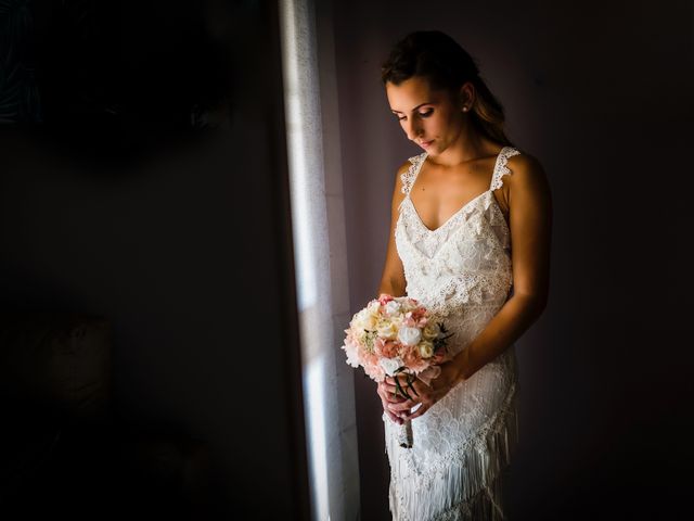
[[[410,157],[411,166],[401,176],[406,196],[395,231],[408,295],[444,316],[468,303],[494,305],[505,300],[512,284],[511,239],[493,191],[511,174],[509,157],[518,153],[511,147],[502,149],[489,189],[435,230],[422,223],[410,199],[427,153]]]

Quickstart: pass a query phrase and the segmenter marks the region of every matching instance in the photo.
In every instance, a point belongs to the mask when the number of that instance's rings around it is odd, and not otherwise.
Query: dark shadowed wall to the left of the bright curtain
[[[107,318],[118,417],[207,446],[214,519],[305,514],[277,8],[2,7],[0,309]]]

